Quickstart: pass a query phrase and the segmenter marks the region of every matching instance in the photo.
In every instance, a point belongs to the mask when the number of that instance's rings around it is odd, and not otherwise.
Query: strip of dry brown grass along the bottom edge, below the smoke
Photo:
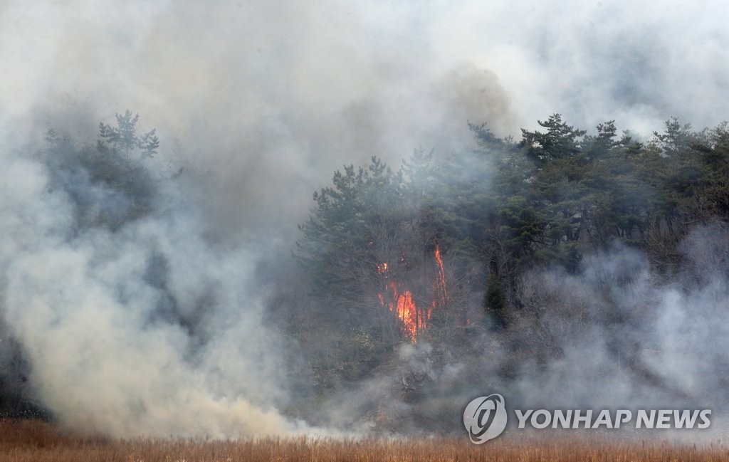
[[[31,420],[0,421],[0,461],[728,461],[729,449],[607,440],[262,439],[190,441],[82,438]]]

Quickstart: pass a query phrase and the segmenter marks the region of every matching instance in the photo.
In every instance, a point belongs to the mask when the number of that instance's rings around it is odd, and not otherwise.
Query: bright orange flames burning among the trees
[[[388,307],[391,312],[397,313],[397,318],[402,321],[402,331],[413,342],[418,340],[418,332],[427,327],[433,308],[443,306],[448,302],[443,258],[440,256],[440,246],[437,242],[434,257],[437,276],[433,281],[434,299],[428,308],[418,308],[413,293],[404,289],[403,284],[398,281],[387,281],[385,290],[377,294],[383,306]],[[377,272],[389,280],[389,267],[386,262],[377,265]]]

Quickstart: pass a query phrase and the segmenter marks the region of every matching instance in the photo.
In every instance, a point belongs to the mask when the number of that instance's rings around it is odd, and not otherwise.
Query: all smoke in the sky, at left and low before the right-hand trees
[[[467,149],[467,121],[507,136],[555,110],[644,133],[666,114],[722,119],[722,5],[650,5],[0,4],[0,287],[31,398],[71,428],[114,436],[304,431],[281,412],[292,345],[264,318],[311,191],[372,154],[397,164],[416,146]],[[152,197],[139,216],[134,192],[100,187],[69,160],[127,107],[163,141],[134,178]],[[69,158],[35,154],[48,127],[82,140],[64,148]],[[480,364],[445,351],[434,364],[431,346],[406,345],[386,375],[332,396],[313,420],[359,428],[389,403],[387,425],[441,431],[428,423],[503,385],[488,377],[517,341],[543,340],[560,358],[548,369],[524,359],[520,399],[716,402],[720,344],[695,338],[725,337],[727,281],[725,249],[699,257],[706,242],[720,247],[725,229],[686,240],[686,273],[674,278],[686,286],[655,281],[624,248],[580,276],[534,274],[523,290],[547,291],[564,316],[525,339],[484,334]],[[439,398],[415,409],[400,396],[408,377],[426,377]],[[609,387],[595,395],[596,383]],[[363,390],[375,404],[355,397]]]

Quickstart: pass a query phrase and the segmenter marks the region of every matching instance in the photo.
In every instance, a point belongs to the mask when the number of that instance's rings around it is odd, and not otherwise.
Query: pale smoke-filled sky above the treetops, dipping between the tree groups
[[[139,111],[217,230],[292,230],[345,163],[397,167],[560,112],[723,120],[720,1],[4,1],[0,117],[93,136]]]

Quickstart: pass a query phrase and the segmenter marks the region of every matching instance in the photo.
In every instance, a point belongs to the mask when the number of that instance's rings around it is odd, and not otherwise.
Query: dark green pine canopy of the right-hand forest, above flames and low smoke
[[[668,270],[692,224],[729,219],[726,122],[694,132],[673,117],[647,144],[618,133],[614,120],[590,134],[560,114],[538,123],[519,143],[471,124],[478,149],[438,159],[419,150],[398,173],[375,158],[367,169],[335,173],[301,227],[300,255],[316,263],[311,278],[358,299],[373,290],[362,278],[377,262],[437,238],[455,277],[482,291],[483,308],[504,328],[532,267],[574,273],[583,254],[619,240]],[[417,232],[405,246],[394,236],[408,224]]]

